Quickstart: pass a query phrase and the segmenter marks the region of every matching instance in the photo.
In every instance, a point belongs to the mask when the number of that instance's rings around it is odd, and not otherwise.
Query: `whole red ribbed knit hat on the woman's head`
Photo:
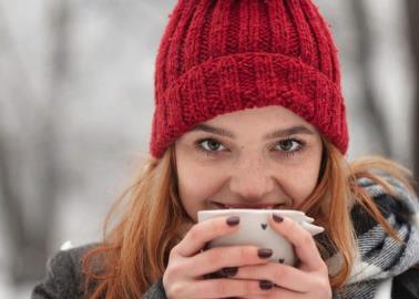
[[[150,151],[219,114],[280,105],[343,154],[337,49],[310,0],[178,0],[160,44]]]

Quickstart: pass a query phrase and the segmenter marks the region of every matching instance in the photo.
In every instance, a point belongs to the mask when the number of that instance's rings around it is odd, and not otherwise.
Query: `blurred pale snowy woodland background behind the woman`
[[[315,0],[340,49],[348,158],[419,174],[419,1]],[[0,298],[29,298],[67,240],[96,241],[147,156],[174,0],[0,0]]]

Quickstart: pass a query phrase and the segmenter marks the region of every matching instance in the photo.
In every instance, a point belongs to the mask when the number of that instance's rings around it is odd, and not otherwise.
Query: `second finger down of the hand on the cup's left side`
[[[187,260],[193,277],[203,276],[226,267],[268,262],[273,250],[255,246],[226,246],[211,248]],[[198,265],[198,267],[196,266]]]

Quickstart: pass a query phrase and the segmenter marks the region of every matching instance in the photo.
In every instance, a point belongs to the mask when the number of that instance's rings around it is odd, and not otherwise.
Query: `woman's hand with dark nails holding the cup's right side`
[[[276,262],[244,266],[238,268],[234,278],[268,280],[274,283],[274,287],[266,295],[257,298],[331,298],[327,266],[320,257],[311,234],[293,219],[286,217],[283,219],[283,221],[278,223],[270,217],[269,225],[294,245],[299,259],[298,267]]]

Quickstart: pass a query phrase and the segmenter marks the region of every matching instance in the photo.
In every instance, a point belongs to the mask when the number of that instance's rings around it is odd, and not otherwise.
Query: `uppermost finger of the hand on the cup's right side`
[[[302,268],[327,271],[327,267],[320,257],[311,234],[288,217],[279,216],[276,219],[274,216],[269,217],[270,227],[294,245],[302,262]]]

